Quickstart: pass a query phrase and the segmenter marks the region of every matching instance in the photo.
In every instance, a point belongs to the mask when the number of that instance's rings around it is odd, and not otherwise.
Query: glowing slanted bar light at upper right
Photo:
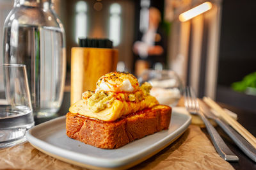
[[[196,17],[197,15],[200,15],[201,13],[207,12],[212,8],[212,3],[205,2],[202,3],[195,8],[192,8],[191,10],[188,10],[187,12],[184,12],[180,14],[179,19],[181,22],[185,22],[189,19],[192,19],[193,17]]]

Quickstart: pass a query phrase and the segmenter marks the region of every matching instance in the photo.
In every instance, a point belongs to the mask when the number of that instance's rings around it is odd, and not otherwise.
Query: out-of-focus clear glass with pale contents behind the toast
[[[150,95],[156,97],[159,104],[177,105],[183,94],[183,85],[179,75],[172,70],[146,70],[138,77],[140,84],[149,82],[152,85]]]

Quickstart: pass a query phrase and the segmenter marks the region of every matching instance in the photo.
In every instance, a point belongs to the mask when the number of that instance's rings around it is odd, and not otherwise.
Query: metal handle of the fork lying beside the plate
[[[211,125],[211,123],[205,118],[204,113],[201,111],[198,111],[198,115],[200,118],[204,121],[205,127],[211,136],[212,143],[214,145],[214,148],[219,153],[221,158],[224,158],[227,161],[238,161],[239,158],[236,154],[234,154],[225,144],[223,139],[221,138],[220,134],[218,134],[217,130]]]

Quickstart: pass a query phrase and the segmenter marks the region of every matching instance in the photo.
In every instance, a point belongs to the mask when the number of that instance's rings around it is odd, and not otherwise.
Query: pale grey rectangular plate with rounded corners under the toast
[[[126,169],[163,150],[188,128],[191,116],[172,112],[168,130],[148,135],[115,150],[103,150],[70,139],[65,116],[31,128],[26,137],[35,148],[70,164],[93,169]]]

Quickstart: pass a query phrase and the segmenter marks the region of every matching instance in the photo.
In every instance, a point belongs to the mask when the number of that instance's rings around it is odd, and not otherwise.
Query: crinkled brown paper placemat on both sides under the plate
[[[0,169],[83,169],[50,157],[29,143],[0,150]],[[170,146],[132,169],[234,169],[195,125]]]

